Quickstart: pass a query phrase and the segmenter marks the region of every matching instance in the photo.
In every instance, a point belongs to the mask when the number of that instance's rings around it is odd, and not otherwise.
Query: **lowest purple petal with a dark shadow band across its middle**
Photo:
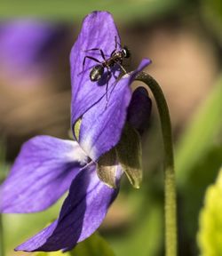
[[[91,164],[73,180],[59,219],[16,248],[17,251],[71,250],[99,228],[118,190],[108,188]]]

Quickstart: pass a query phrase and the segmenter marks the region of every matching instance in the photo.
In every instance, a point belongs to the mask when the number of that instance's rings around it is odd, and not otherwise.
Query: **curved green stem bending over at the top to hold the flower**
[[[177,255],[177,203],[176,182],[174,172],[170,113],[163,91],[152,76],[145,72],[139,73],[136,80],[147,84],[155,97],[159,111],[164,147],[164,191],[165,191],[165,255]]]

